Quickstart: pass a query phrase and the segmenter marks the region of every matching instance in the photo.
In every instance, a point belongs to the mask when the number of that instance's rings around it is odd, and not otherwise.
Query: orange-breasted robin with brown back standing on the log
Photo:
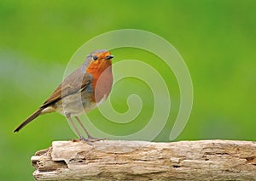
[[[67,117],[80,139],[84,139],[84,137],[74,124],[72,117],[79,122],[86,133],[88,139],[84,140],[95,139],[86,130],[78,116],[95,109],[97,105],[108,98],[113,83],[112,58],[113,55],[104,49],[90,53],[83,65],[67,76],[49,96],[49,99],[25,122],[15,128],[14,132],[19,132],[22,127],[40,115],[58,112]]]

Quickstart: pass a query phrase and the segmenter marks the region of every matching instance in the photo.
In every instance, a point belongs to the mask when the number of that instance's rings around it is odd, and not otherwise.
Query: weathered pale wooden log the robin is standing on
[[[55,141],[32,165],[36,180],[256,180],[256,142]]]

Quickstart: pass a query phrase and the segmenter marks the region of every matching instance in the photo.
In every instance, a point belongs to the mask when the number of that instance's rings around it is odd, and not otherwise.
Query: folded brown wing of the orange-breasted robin
[[[92,76],[88,73],[84,73],[80,68],[73,71],[72,74],[67,76],[67,78],[61,82],[61,84],[49,96],[49,99],[44,102],[41,108],[54,104],[56,101],[70,94],[78,93],[82,89],[87,88],[91,81]]]

